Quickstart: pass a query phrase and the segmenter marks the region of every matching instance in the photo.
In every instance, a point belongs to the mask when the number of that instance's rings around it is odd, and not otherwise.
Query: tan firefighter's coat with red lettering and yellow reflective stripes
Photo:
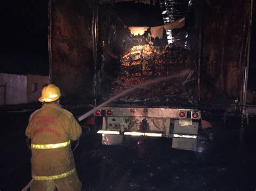
[[[71,112],[57,103],[44,104],[31,114],[25,134],[31,139],[34,180],[55,180],[76,173],[70,140],[77,140],[82,128]]]

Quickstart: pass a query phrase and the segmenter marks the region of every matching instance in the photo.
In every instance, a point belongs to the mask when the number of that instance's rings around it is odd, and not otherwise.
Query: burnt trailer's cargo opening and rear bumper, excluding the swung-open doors
[[[103,103],[112,99],[95,111],[102,144],[123,144],[127,136],[164,137],[172,140],[173,148],[196,150],[201,119],[199,67],[191,58],[191,41],[196,37],[188,28],[194,26],[185,27],[182,17],[190,15],[191,7],[185,7],[180,18],[170,21],[164,20],[167,8],[161,6],[161,21],[156,21],[159,26],[124,26],[122,14],[116,13],[120,19],[114,21],[110,16],[115,27],[112,34],[98,29],[94,54],[100,59],[95,70],[95,100]],[[97,26],[106,25],[106,18],[99,15]],[[111,48],[107,43],[110,38],[111,43],[122,39],[123,47]]]

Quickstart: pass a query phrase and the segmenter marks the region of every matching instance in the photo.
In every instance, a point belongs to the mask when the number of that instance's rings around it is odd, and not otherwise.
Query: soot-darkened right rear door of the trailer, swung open
[[[242,103],[250,46],[251,0],[201,4],[201,96]],[[220,99],[221,97],[221,99]]]

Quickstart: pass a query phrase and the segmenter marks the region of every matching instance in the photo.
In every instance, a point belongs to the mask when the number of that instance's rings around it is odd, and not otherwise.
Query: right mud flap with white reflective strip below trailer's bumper
[[[198,124],[199,122],[192,122],[192,120],[175,120],[172,148],[196,151]]]

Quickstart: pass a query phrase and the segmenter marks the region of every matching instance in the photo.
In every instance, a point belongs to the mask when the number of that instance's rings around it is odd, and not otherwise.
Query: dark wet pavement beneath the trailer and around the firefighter
[[[21,190],[31,180],[24,132],[32,111],[0,111],[1,191]],[[74,152],[83,190],[255,190],[254,121],[243,128],[230,121],[200,129],[196,152],[173,149],[166,138],[101,145],[95,126],[84,126]]]

